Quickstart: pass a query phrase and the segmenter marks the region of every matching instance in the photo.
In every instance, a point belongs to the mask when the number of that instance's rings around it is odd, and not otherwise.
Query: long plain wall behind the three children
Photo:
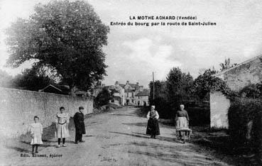
[[[40,118],[43,128],[51,126],[60,106],[70,116],[79,106],[84,107],[84,114],[91,114],[93,99],[0,87],[0,134],[13,138],[26,133],[33,116]]]

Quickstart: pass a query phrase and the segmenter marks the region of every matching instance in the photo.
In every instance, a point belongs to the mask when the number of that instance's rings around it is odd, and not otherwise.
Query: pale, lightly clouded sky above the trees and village
[[[0,0],[0,70],[15,75],[30,67],[5,67],[9,53],[4,29],[17,17],[28,18],[37,3],[46,0]],[[144,87],[152,79],[164,80],[172,67],[190,72],[195,78],[204,69],[215,67],[226,57],[240,63],[262,52],[262,1],[230,0],[89,0],[102,22],[109,26],[107,77],[104,84],[139,82]],[[197,22],[217,26],[110,26],[129,22],[129,16],[197,16]],[[133,21],[135,22],[135,21]],[[136,21],[148,22],[148,21]],[[151,21],[159,22],[159,21]],[[164,21],[175,22],[175,21]]]

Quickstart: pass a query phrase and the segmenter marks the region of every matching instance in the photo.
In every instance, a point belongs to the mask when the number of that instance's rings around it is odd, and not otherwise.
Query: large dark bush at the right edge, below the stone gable
[[[261,99],[239,99],[235,98],[231,101],[229,107],[229,135],[234,140],[236,147],[244,147],[261,149],[262,138],[262,100]],[[251,129],[251,138],[247,137],[248,123],[253,121]],[[262,150],[262,149],[261,149]]]

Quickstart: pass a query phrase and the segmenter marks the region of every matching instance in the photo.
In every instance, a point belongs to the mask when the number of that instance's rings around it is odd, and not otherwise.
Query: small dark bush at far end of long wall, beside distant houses
[[[100,107],[109,104],[109,101],[113,99],[109,90],[104,87],[102,92],[100,92],[97,97],[94,99],[95,106]]]

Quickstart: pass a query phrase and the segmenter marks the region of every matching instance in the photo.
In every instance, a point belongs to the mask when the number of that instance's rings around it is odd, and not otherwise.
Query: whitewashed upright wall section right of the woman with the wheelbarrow
[[[210,93],[210,127],[229,128],[228,110],[230,100],[222,92]]]

